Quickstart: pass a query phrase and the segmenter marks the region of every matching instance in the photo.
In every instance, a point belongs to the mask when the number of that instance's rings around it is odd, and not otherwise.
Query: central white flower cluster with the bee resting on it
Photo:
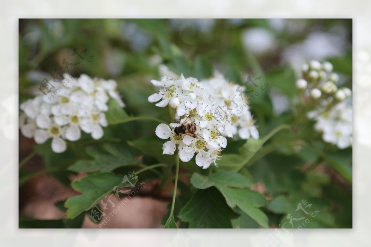
[[[222,76],[199,82],[196,78],[184,78],[182,74],[179,78],[164,76],[161,81],[151,82],[160,90],[148,97],[148,101],[160,101],[156,106],[176,109],[174,120],[180,119],[170,127],[160,124],[156,128],[159,138],[170,138],[163,145],[163,154],[174,154],[178,145],[183,162],[197,153],[196,164],[206,169],[211,163],[217,165],[221,150],[227,146],[225,136],[233,137],[238,133],[243,139],[250,136],[259,139],[246,99],[238,94],[244,87],[238,88]],[[185,124],[196,125],[195,135],[176,134],[175,127],[181,126],[188,116],[190,121]]]

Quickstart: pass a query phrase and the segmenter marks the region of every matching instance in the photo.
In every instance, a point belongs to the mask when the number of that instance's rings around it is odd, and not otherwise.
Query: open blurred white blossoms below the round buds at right
[[[353,140],[353,109],[347,101],[336,104],[330,110],[324,108],[308,112],[308,118],[315,119],[315,129],[322,132],[325,142],[340,149],[348,148]]]

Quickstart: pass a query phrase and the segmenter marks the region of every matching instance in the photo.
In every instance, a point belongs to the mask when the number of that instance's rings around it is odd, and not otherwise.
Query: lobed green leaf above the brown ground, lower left
[[[65,207],[67,219],[73,219],[82,212],[91,209],[106,194],[112,192],[114,186],[118,188],[130,187],[127,181],[122,183],[124,176],[114,175],[112,173],[98,173],[83,177],[71,183],[76,191],[82,193],[79,196],[73,196],[66,200]],[[131,180],[132,184],[136,181]]]

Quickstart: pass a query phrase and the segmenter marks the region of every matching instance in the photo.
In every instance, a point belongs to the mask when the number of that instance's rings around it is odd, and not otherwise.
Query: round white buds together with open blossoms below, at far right
[[[332,64],[312,60],[303,65],[303,78],[296,81],[296,87],[304,98],[311,98],[318,104],[307,117],[316,121],[316,131],[322,132],[325,142],[344,149],[352,145],[352,106],[346,101],[351,97],[349,88],[335,85],[339,76],[332,73]]]

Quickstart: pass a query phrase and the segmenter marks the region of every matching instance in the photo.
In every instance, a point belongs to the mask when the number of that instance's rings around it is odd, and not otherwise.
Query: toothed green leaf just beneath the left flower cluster
[[[68,170],[74,172],[111,172],[112,170],[134,164],[135,157],[124,143],[105,143],[103,148],[109,154],[102,153],[97,146],[88,146],[86,153],[94,160],[78,160]]]

